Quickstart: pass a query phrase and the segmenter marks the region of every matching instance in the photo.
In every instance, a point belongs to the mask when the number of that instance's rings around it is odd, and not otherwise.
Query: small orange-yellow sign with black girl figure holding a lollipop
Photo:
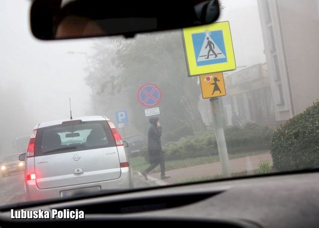
[[[226,95],[222,72],[200,75],[200,81],[204,99]]]

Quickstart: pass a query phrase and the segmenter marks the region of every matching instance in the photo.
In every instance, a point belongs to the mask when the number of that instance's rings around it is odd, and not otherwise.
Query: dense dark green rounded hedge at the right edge
[[[319,166],[319,102],[278,127],[270,153],[277,171]]]

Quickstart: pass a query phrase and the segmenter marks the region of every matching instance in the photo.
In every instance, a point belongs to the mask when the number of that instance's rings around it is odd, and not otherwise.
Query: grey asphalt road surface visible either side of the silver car
[[[133,176],[134,188],[147,187],[148,184],[140,177]],[[0,177],[0,206],[25,202],[23,173]]]

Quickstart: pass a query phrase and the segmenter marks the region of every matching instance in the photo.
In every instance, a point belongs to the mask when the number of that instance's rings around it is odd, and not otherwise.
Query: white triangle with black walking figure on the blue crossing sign
[[[208,53],[210,53],[209,57],[207,57]],[[207,60],[213,60],[213,59],[219,59],[219,58],[225,58],[225,55],[220,51],[216,43],[213,41],[212,37],[206,34],[206,37],[203,42],[203,46],[202,46],[200,55],[197,58],[197,61],[200,62],[200,61],[207,61]]]

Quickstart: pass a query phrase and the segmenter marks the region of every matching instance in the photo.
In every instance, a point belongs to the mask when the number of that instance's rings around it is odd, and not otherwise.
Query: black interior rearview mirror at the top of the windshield
[[[31,30],[42,40],[124,35],[213,23],[218,0],[34,0]]]

